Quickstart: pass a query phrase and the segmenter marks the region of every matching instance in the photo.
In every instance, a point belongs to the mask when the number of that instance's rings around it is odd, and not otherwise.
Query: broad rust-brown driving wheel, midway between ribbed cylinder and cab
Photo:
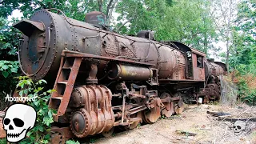
[[[158,118],[161,116],[161,109],[159,106],[155,106],[150,110],[144,110],[143,112],[143,120],[145,123],[149,124],[157,122]]]

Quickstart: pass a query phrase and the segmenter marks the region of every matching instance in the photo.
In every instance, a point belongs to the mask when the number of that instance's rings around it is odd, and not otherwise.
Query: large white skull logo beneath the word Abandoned
[[[25,104],[14,104],[6,111],[3,128],[8,142],[19,142],[34,127],[36,111]]]

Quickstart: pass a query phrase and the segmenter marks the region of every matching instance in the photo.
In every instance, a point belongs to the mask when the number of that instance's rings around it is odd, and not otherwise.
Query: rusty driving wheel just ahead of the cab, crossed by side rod
[[[166,92],[162,93],[160,96],[161,99],[165,99],[168,97],[171,97],[171,96]],[[165,102],[164,105],[165,107],[162,108],[161,110],[162,115],[164,115],[166,118],[170,118],[170,116],[174,114],[174,102]]]

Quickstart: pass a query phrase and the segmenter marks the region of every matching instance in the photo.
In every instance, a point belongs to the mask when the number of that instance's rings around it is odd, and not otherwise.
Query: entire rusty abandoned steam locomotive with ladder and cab
[[[137,37],[116,34],[99,12],[79,22],[50,11],[39,10],[14,27],[24,34],[18,50],[22,72],[54,83],[52,141],[108,136],[115,126],[133,129],[161,114],[179,114],[183,102],[220,97],[218,75],[226,66],[206,60],[206,54],[180,42],[156,42],[150,30]]]

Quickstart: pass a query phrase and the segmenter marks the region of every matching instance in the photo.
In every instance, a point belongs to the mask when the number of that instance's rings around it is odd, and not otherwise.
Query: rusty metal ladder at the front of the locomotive
[[[62,55],[58,75],[54,83],[54,90],[56,91],[51,94],[48,105],[51,109],[58,110],[57,114],[54,114],[55,122],[58,122],[58,117],[66,112],[81,62],[82,58]]]

